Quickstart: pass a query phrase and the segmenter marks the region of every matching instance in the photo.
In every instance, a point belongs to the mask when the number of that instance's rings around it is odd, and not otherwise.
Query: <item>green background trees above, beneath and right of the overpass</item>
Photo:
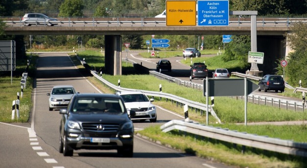
[[[229,0],[230,10],[246,11],[256,10],[258,16],[268,17],[304,17],[307,14],[307,0]],[[1,16],[23,16],[24,10],[58,10],[59,17],[84,16],[84,10],[93,10],[94,17],[106,17],[110,15],[123,16],[127,10],[159,11],[165,10],[165,0],[1,0]],[[148,12],[146,13],[150,15]],[[151,16],[154,16],[151,14]],[[244,16],[243,16],[244,17]],[[28,36],[6,36],[3,28],[5,24],[0,21],[0,40],[15,40],[17,46],[17,56],[24,55],[25,44],[29,45]],[[303,86],[307,87],[307,26],[297,24],[292,27],[292,34],[285,34],[294,52],[290,53],[286,76],[289,76],[289,84],[298,85],[298,80],[302,80]],[[123,35],[123,42],[130,42],[130,48],[146,48],[146,40],[151,39],[151,35]],[[175,50],[180,48],[199,48],[199,37],[195,35],[156,35],[155,38],[169,39],[170,48]],[[46,48],[66,46],[72,48],[77,46],[75,36],[35,36],[36,44],[44,44]],[[104,47],[103,35],[82,35],[82,42],[90,48]],[[204,36],[204,49],[218,49],[223,46],[220,35]],[[233,59],[241,60],[242,64],[247,64],[247,54],[250,48],[250,36],[233,35],[233,41],[225,48],[223,54],[224,61]],[[202,43],[202,41],[201,41]],[[27,46],[29,47],[29,46]],[[18,54],[20,53],[20,54]],[[281,74],[281,67],[277,60],[275,72]]]

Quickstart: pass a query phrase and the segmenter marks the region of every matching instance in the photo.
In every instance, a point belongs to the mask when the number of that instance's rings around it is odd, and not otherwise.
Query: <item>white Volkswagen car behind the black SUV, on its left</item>
[[[47,96],[49,96],[49,111],[67,107],[71,101],[71,96],[75,93],[76,91],[71,85],[54,86],[51,92],[47,93]]]

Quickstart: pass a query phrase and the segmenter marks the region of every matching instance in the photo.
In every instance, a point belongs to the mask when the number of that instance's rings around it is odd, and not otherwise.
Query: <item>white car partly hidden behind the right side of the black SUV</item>
[[[135,116],[131,116],[131,120],[150,120],[150,122],[157,121],[156,107],[151,103],[153,98],[148,98],[140,91],[125,91],[117,92],[124,100],[127,111],[134,110]]]

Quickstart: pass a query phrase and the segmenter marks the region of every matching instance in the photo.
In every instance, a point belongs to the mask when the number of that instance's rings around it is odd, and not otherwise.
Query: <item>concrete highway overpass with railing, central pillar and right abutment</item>
[[[250,18],[231,18],[229,26],[166,26],[159,18],[62,18],[54,26],[38,22],[24,26],[20,19],[5,22],[8,35],[105,35],[106,72],[114,75],[121,74],[121,35],[251,35],[252,29]],[[263,65],[258,64],[262,71],[268,72],[287,55],[284,34],[297,22],[305,19],[257,18],[256,51],[265,55]]]

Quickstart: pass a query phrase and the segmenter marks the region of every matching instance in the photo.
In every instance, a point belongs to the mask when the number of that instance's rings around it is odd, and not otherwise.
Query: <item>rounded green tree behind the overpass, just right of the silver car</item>
[[[60,17],[83,16],[82,0],[65,0],[60,6]]]

